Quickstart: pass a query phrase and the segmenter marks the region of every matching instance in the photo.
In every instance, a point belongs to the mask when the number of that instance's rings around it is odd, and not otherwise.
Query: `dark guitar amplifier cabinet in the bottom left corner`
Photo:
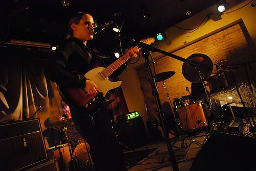
[[[0,169],[24,170],[46,161],[39,119],[0,125]]]

